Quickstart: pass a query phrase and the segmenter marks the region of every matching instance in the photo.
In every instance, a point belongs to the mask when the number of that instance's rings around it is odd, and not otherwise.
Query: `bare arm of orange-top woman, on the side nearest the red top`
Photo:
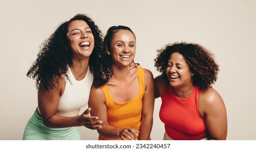
[[[155,84],[153,75],[149,70],[145,70],[145,95],[142,104],[142,121],[140,125],[139,140],[148,140],[153,125],[153,107],[155,102]]]

